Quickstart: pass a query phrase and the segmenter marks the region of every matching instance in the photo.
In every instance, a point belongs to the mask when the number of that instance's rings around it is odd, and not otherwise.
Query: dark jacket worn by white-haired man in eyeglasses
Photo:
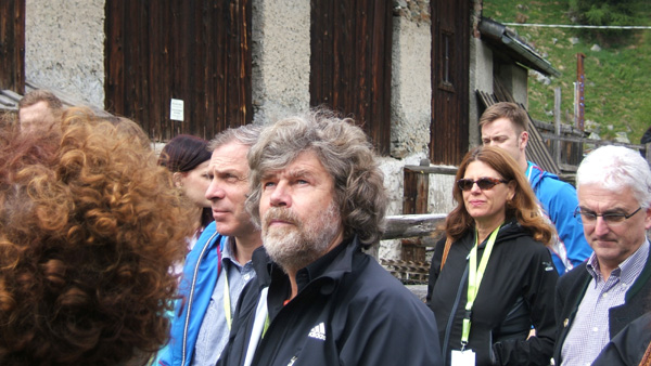
[[[574,267],[564,274],[556,290],[556,317],[557,317],[557,343],[554,345],[553,358],[557,365],[562,362],[561,353],[563,343],[574,324],[578,305],[583,300],[592,279],[586,269],[587,263]],[[624,329],[628,323],[642,316],[648,310],[648,299],[651,293],[651,251],[642,269],[642,272],[630,286],[624,297],[624,303],[620,306],[611,308],[608,311],[608,324],[610,339],[612,340],[620,330]],[[586,335],[586,337],[588,337]]]

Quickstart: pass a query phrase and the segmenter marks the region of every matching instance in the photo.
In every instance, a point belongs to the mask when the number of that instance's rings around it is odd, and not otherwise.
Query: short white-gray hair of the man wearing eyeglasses
[[[636,151],[624,146],[602,146],[590,153],[576,171],[576,188],[598,184],[604,189],[633,191],[642,209],[651,205],[651,169]]]

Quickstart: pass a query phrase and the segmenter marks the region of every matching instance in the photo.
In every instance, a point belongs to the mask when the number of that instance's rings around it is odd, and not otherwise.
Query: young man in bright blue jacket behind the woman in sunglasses
[[[576,189],[557,175],[527,161],[526,132],[528,117],[515,103],[496,103],[480,117],[482,143],[506,149],[522,168],[528,179],[544,213],[556,226],[558,236],[551,244],[551,258],[559,275],[583,263],[592,249],[586,241],[580,222],[573,213],[578,200]]]

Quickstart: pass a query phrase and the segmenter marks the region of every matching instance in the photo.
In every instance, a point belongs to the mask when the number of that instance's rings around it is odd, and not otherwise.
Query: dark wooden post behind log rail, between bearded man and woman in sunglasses
[[[429,167],[430,161],[423,159],[421,166]],[[405,167],[404,172],[403,214],[427,213],[430,174],[418,170],[418,167]],[[419,240],[407,238],[400,243],[404,261],[425,262],[425,248],[419,245]]]

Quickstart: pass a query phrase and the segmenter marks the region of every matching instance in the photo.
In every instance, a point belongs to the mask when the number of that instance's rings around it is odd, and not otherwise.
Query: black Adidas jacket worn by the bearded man
[[[434,314],[357,239],[298,271],[297,296],[264,247],[253,254],[257,279],[246,285],[229,343],[217,365],[242,365],[260,290],[269,287],[269,327],[252,365],[442,365]]]

